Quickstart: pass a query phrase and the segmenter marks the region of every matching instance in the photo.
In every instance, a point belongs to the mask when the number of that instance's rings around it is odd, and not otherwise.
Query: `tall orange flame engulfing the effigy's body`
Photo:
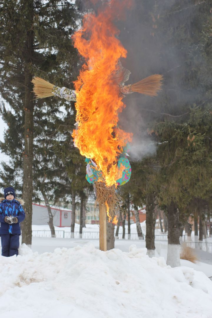
[[[132,137],[117,126],[118,114],[125,105],[112,73],[127,51],[117,38],[112,15],[110,5],[98,15],[85,15],[83,27],[73,36],[75,47],[85,58],[75,82],[79,125],[73,137],[81,155],[95,161],[103,172],[100,181],[106,186],[115,184],[121,176],[124,167],[118,168],[117,158]]]

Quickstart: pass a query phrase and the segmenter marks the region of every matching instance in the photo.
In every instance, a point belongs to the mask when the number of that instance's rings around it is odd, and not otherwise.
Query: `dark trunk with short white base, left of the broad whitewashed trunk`
[[[154,194],[147,195],[146,204],[146,248],[149,257],[155,256],[154,230],[155,230],[155,197]]]

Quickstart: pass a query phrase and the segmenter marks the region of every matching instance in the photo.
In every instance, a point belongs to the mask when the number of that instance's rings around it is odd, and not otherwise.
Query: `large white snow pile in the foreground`
[[[211,318],[212,282],[171,268],[146,248],[102,252],[86,244],[0,256],[0,317]]]

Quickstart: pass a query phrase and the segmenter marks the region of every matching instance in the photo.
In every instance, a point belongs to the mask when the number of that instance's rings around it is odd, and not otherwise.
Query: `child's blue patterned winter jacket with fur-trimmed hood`
[[[16,199],[6,200],[4,198],[0,198],[0,201],[0,235],[8,233],[21,234],[20,222],[22,222],[25,218],[22,205]],[[4,218],[10,216],[17,217],[18,222],[12,224],[4,222]]]

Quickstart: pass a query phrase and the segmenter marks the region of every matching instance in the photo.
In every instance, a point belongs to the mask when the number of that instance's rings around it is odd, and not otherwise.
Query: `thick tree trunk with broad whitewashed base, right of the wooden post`
[[[179,210],[172,201],[168,206],[168,252],[167,265],[180,266],[180,226]]]

